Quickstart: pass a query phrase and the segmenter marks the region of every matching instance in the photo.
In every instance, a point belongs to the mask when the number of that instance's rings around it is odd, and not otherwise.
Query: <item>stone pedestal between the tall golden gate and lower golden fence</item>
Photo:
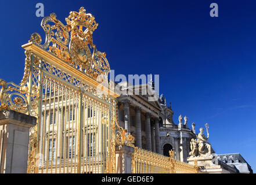
[[[132,153],[134,147],[116,146],[116,173],[132,173]]]

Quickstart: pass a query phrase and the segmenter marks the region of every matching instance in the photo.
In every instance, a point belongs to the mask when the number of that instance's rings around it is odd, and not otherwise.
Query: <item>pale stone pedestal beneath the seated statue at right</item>
[[[216,160],[214,154],[205,157],[189,157],[189,164],[194,165],[194,160],[197,160],[199,173],[237,173],[235,168]]]

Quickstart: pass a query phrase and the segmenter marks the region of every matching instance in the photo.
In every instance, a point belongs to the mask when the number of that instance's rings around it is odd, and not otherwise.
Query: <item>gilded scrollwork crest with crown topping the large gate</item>
[[[86,13],[83,7],[79,12],[70,12],[66,18],[67,25],[56,17],[56,14],[52,13],[41,22],[46,35],[44,44],[41,44],[41,36],[37,33],[32,34],[29,41],[42,49],[49,49],[56,57],[95,80],[101,74],[107,75],[110,66],[106,53],[98,51],[93,43],[92,34],[98,27],[95,17]]]

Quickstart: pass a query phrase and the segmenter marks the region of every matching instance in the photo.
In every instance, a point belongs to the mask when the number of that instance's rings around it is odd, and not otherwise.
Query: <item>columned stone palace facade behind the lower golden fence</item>
[[[187,123],[174,123],[174,112],[163,94],[156,101],[149,101],[153,82],[135,86],[124,82],[120,86],[125,91],[117,98],[118,123],[135,137],[135,146],[164,156],[173,150],[176,160],[187,162],[190,140],[196,135]]]

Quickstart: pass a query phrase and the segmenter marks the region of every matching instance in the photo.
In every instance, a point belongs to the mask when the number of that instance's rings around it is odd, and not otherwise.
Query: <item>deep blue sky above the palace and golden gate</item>
[[[20,83],[33,32],[44,38],[35,5],[63,23],[84,6],[99,23],[93,33],[115,73],[160,75],[160,93],[196,131],[210,125],[218,154],[240,153],[256,171],[255,1],[1,1],[0,78]],[[210,4],[219,17],[210,17]]]

